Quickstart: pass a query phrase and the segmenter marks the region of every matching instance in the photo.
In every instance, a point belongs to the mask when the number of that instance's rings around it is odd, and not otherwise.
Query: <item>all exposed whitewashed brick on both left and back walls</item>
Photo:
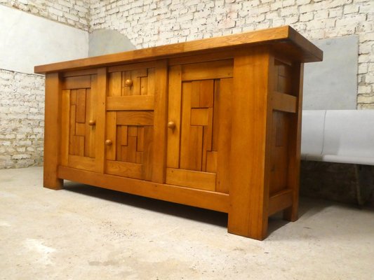
[[[358,109],[374,109],[373,0],[0,0],[66,25],[114,29],[136,48],[291,25],[359,36]],[[1,67],[1,66],[0,66]],[[0,168],[41,165],[44,77],[0,69]]]

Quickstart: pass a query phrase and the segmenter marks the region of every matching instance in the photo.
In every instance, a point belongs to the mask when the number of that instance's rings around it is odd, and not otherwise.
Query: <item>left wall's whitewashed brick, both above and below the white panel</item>
[[[89,0],[0,0],[0,5],[89,28]],[[0,68],[0,169],[42,165],[43,146],[44,76]]]

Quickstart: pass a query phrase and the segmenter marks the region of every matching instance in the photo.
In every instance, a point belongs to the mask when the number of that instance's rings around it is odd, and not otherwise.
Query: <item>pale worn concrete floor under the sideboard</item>
[[[0,279],[374,279],[374,211],[302,200],[265,241],[227,215],[0,170]]]

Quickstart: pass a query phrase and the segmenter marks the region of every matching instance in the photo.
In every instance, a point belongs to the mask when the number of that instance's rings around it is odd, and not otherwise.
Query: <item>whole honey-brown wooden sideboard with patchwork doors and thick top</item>
[[[267,236],[298,218],[302,76],[291,27],[41,65],[44,187],[63,179],[228,213]]]

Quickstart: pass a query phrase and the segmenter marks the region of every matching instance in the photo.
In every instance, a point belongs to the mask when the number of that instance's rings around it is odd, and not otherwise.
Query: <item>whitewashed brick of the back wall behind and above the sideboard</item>
[[[91,31],[136,48],[291,25],[309,39],[359,36],[358,109],[374,109],[373,0],[91,0]]]

